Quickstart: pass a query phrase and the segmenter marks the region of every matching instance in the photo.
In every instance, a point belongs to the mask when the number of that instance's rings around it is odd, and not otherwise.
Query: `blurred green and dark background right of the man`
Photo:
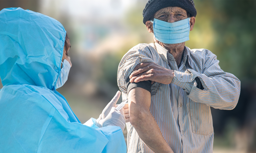
[[[207,49],[217,55],[219,66],[241,81],[241,94],[235,109],[231,111],[211,109],[214,146],[235,147],[246,152],[254,152],[256,150],[254,59],[256,1],[195,0],[195,5],[198,15],[195,31],[191,32],[188,46],[205,48],[205,44],[208,45]],[[201,38],[196,37],[198,33],[202,34]],[[209,35],[212,39],[209,39]],[[192,40],[193,38],[198,38],[200,41]]]

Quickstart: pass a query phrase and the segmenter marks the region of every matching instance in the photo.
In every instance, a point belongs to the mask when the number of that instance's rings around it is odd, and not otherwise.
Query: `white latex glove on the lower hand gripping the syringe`
[[[122,131],[125,129],[125,115],[123,109],[116,111],[116,107],[112,107],[109,114],[99,121],[102,127],[105,126],[119,126]]]

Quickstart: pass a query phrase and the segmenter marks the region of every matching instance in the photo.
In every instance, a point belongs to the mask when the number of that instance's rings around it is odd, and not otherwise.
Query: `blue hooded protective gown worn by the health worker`
[[[120,127],[81,124],[55,90],[65,36],[43,14],[0,11],[0,152],[126,152]]]

